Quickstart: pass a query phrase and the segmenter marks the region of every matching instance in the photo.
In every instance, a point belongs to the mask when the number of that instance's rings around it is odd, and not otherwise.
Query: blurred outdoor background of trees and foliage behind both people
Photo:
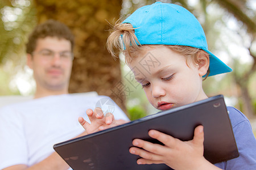
[[[26,66],[24,44],[36,24],[56,19],[67,24],[76,37],[69,92],[96,91],[110,96],[131,120],[158,112],[130,76],[122,54],[115,60],[105,46],[110,24],[154,2],[1,0],[0,95],[33,95],[35,82]],[[161,2],[191,11],[204,28],[210,51],[233,69],[232,73],[207,78],[203,83],[207,95],[224,95],[227,105],[240,109],[256,126],[256,1]]]

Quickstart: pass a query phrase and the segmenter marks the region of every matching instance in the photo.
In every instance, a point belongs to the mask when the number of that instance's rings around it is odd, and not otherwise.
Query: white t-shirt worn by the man
[[[67,141],[84,131],[78,117],[89,121],[85,111],[104,103],[106,96],[57,95],[34,99],[0,109],[0,169],[16,164],[28,167],[52,154],[55,143]],[[112,103],[116,120],[129,120]],[[110,102],[111,105],[111,102]],[[102,108],[103,109],[103,108]]]

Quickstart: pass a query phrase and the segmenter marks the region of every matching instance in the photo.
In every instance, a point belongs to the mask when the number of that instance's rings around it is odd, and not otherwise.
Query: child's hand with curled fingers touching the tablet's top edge
[[[86,122],[82,117],[79,117],[79,122],[86,130],[87,134],[119,125],[115,121],[114,115],[112,113],[107,113],[106,116],[104,116],[101,108],[95,108],[94,112],[92,109],[87,109],[86,114],[89,117],[91,123],[89,124],[89,122]]]

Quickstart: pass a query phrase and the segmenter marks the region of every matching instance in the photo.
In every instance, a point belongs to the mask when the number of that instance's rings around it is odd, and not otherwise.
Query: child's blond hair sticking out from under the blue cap
[[[129,23],[116,23],[107,40],[107,48],[113,57],[116,57],[114,50],[117,49],[119,52],[123,52],[125,55],[125,61],[130,63],[132,59],[138,54],[141,54],[148,47],[154,47],[156,45],[141,45],[135,36],[135,29],[133,25]],[[121,39],[120,39],[121,36]],[[158,45],[159,46],[159,45]],[[168,49],[173,50],[174,52],[180,53],[183,56],[187,57],[187,65],[188,62],[191,62],[197,65],[200,61],[197,59],[197,53],[204,52],[209,56],[207,52],[202,49],[194,48],[191,46],[183,46],[183,45],[162,45],[166,46]],[[208,69],[204,80],[210,74],[210,70]]]

